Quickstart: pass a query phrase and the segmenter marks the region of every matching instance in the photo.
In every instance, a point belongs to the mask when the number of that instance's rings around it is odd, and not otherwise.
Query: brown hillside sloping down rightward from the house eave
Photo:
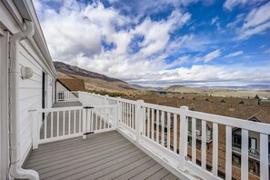
[[[54,62],[58,77],[84,79],[86,90],[103,90],[108,92],[126,91],[139,89],[125,81],[87,71],[74,65],[67,65],[63,62]]]

